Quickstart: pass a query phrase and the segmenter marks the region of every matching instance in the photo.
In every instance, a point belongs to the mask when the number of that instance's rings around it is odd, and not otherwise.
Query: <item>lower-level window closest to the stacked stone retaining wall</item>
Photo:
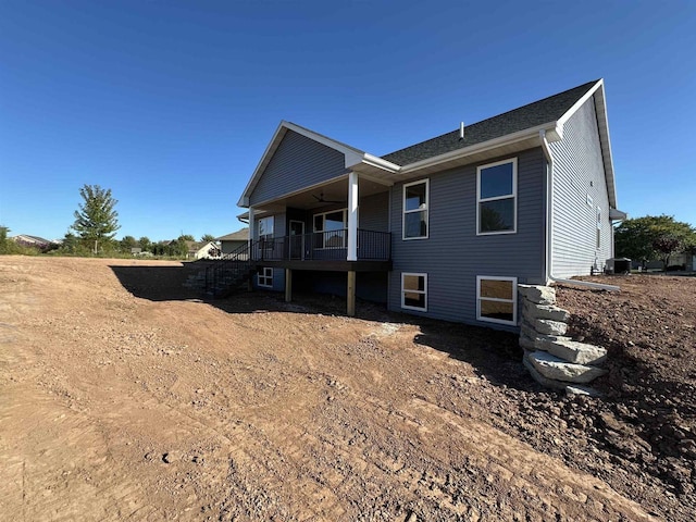
[[[517,277],[476,277],[476,319],[490,323],[518,323]]]

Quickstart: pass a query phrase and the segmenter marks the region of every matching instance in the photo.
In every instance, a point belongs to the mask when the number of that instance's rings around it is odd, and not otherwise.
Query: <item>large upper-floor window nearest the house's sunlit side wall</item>
[[[476,170],[477,235],[517,232],[518,159]]]

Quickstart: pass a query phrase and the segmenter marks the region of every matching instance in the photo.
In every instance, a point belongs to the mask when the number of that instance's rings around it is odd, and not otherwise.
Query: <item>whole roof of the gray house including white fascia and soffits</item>
[[[344,153],[346,169],[361,175],[370,175],[375,181],[395,183],[470,164],[496,154],[512,154],[532,147],[540,147],[547,140],[558,141],[563,137],[564,123],[591,99],[593,99],[597,112],[609,202],[616,209],[613,160],[602,79],[588,82],[558,95],[471,124],[465,127],[462,140],[459,139],[459,129],[456,129],[383,157],[370,154],[294,123],[283,121],[237,204],[239,207],[249,206],[249,196],[288,129]]]

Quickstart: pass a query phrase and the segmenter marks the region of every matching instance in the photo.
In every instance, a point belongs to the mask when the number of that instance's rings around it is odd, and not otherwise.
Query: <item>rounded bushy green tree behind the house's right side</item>
[[[618,256],[641,261],[644,266],[656,258],[667,263],[672,253],[696,245],[696,231],[671,215],[646,215],[624,220],[614,231],[614,245]]]

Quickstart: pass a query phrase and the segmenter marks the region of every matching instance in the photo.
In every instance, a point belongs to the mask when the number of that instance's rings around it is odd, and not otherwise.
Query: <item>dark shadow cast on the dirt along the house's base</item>
[[[135,297],[151,301],[203,300],[227,313],[322,313],[346,315],[344,297],[295,291],[293,302],[271,291],[239,293],[225,299],[202,299],[199,291],[184,287],[189,275],[210,262],[187,262],[181,266],[110,266],[123,287]],[[420,334],[414,343],[448,353],[471,364],[478,376],[494,385],[523,390],[540,389],[524,370],[518,337],[509,332],[389,312],[383,304],[358,299],[356,318],[365,321],[415,325]]]

